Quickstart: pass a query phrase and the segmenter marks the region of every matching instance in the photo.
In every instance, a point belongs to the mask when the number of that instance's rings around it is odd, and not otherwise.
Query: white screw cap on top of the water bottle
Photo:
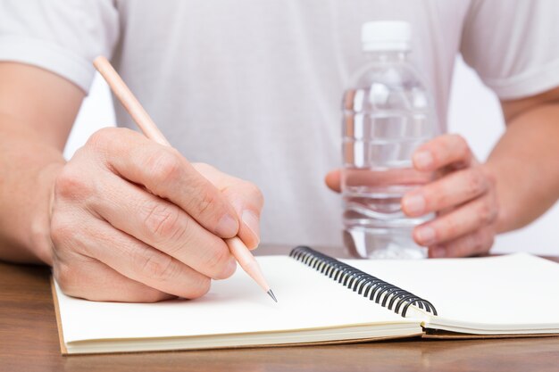
[[[406,21],[371,21],[361,27],[363,51],[409,51],[412,26]]]

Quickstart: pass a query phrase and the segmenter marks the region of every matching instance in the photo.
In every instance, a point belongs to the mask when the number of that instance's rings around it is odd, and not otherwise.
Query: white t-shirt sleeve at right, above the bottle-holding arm
[[[463,59],[500,99],[559,86],[559,1],[473,0]]]

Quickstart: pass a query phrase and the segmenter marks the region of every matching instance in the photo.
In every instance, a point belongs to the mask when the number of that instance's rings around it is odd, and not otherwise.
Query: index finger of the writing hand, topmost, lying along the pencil
[[[235,211],[220,191],[171,147],[129,129],[102,129],[88,141],[105,166],[178,205],[217,236],[238,233]]]

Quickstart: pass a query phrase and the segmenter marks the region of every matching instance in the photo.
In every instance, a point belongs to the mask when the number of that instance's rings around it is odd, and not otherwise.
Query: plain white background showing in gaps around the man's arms
[[[449,131],[463,135],[480,160],[487,158],[505,125],[496,96],[461,59],[456,63],[450,100]],[[64,154],[70,158],[98,128],[114,126],[111,95],[103,79],[96,77],[82,105]],[[493,252],[559,254],[559,204],[529,227],[498,236]]]

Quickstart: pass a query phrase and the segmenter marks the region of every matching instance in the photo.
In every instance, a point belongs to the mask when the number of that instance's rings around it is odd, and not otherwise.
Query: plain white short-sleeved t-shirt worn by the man
[[[188,160],[261,187],[263,243],[340,245],[341,200],[323,178],[341,163],[341,96],[374,20],[412,23],[443,130],[459,52],[502,99],[559,85],[555,0],[4,0],[0,60],[88,91],[108,56]]]

